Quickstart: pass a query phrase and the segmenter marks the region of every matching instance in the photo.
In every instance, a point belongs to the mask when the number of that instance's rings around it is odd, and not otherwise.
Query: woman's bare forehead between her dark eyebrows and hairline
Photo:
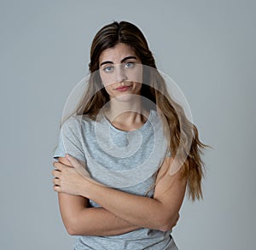
[[[102,51],[102,54],[99,58],[99,63],[102,61],[113,61],[113,63],[120,63],[122,59],[127,56],[136,56],[136,53],[133,49],[127,44],[116,44],[113,48],[108,48]]]

